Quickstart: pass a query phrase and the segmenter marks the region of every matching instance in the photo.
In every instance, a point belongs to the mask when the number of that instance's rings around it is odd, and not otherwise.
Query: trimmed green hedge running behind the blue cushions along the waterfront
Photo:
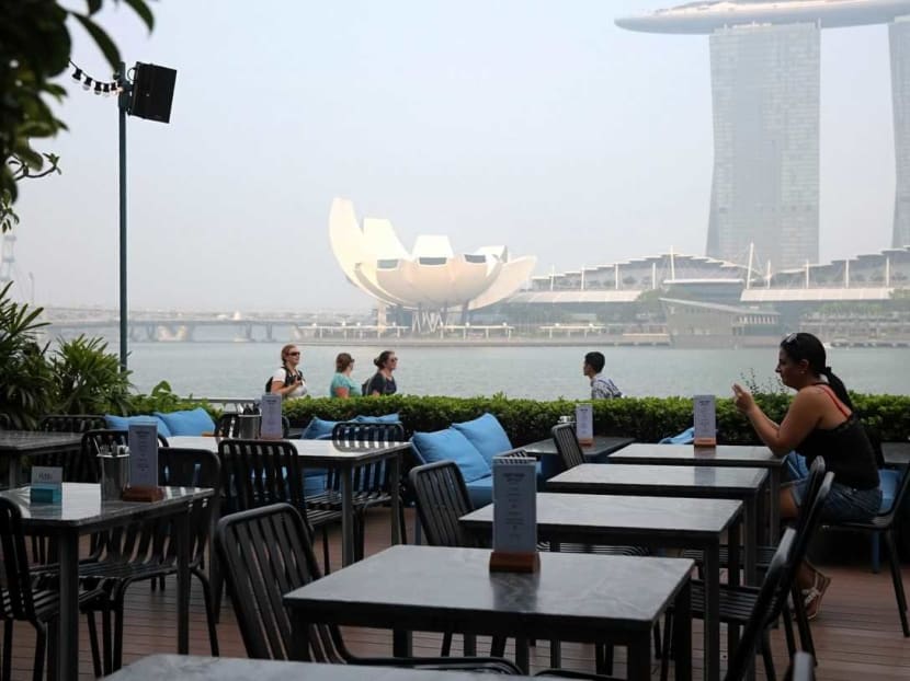
[[[790,395],[757,395],[757,402],[774,420],[786,412]],[[884,441],[906,440],[910,435],[910,396],[853,395],[860,417]],[[285,404],[292,426],[304,427],[318,416],[344,420],[357,414],[397,412],[410,436],[414,430],[440,430],[453,422],[468,420],[490,412],[500,420],[516,447],[549,437],[549,429],[564,414],[575,413],[576,402],[510,400],[493,397],[353,397],[351,400],[300,399]],[[684,397],[625,397],[594,402],[594,432],[634,437],[656,442],[692,425],[692,400]],[[732,400],[717,400],[718,439],[726,443],[755,443],[754,431],[733,407]]]

